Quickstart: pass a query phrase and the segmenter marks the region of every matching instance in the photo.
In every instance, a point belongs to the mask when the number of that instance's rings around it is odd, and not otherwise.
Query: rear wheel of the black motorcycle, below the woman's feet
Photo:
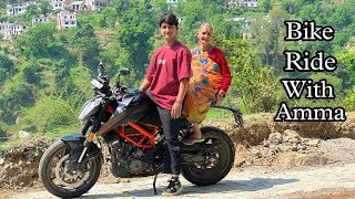
[[[213,185],[221,181],[232,169],[235,149],[230,136],[222,129],[204,126],[201,128],[205,145],[220,143],[206,151],[209,164],[190,164],[183,166],[183,177],[197,186]]]

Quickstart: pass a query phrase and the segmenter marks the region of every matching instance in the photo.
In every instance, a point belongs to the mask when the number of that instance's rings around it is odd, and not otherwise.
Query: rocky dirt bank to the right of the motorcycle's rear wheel
[[[274,114],[257,114],[245,118],[244,126],[225,125],[236,146],[235,167],[296,167],[354,160],[355,113],[347,121],[290,123],[273,121]]]

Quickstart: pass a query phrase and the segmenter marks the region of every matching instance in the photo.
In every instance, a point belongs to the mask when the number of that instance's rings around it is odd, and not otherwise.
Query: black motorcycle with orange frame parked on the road
[[[129,75],[128,69],[120,70],[112,88],[110,77],[103,75],[102,63],[98,72],[98,77],[91,81],[94,95],[78,116],[85,122],[80,134],[63,136],[44,151],[39,164],[40,181],[57,197],[80,197],[94,186],[105,161],[116,178],[155,176],[156,193],[156,176],[164,172],[168,147],[155,103],[141,90],[121,85],[120,76]],[[236,124],[243,124],[240,109],[213,107],[231,111]],[[193,129],[190,122],[180,119],[182,142]],[[203,126],[201,132],[203,143],[181,145],[181,172],[194,185],[213,185],[230,172],[235,149],[224,130]],[[104,146],[106,157],[102,153]]]

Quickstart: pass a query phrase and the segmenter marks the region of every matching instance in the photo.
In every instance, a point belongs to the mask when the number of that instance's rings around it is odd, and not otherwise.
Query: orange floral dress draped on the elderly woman
[[[182,114],[192,124],[200,124],[211,104],[216,101],[215,95],[222,86],[223,75],[220,65],[209,57],[209,53],[197,48],[191,53],[193,76],[190,78]]]

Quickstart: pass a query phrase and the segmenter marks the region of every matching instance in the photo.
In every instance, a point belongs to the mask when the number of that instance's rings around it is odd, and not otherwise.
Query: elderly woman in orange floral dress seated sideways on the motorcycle
[[[193,49],[191,67],[193,76],[186,93],[183,115],[193,124],[194,133],[184,145],[193,145],[204,142],[200,130],[200,124],[205,118],[213,102],[221,104],[229,87],[232,76],[223,52],[213,46],[213,28],[205,23],[200,27],[199,46]]]

